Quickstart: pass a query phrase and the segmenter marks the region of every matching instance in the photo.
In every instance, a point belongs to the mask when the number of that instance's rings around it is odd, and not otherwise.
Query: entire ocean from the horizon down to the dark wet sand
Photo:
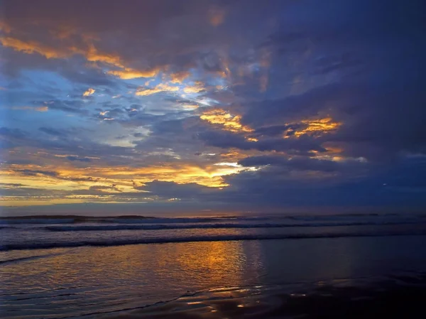
[[[267,318],[294,298],[310,305],[307,297],[321,289],[335,298],[347,296],[344,287],[364,287],[352,301],[383,283],[395,291],[426,282],[426,215],[43,216],[0,223],[1,318],[246,318],[251,307]]]

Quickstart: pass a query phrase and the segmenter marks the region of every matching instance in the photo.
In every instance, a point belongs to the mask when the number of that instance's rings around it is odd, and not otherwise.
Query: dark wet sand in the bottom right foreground
[[[146,308],[96,315],[104,319],[426,318],[426,273],[386,279],[224,288]]]

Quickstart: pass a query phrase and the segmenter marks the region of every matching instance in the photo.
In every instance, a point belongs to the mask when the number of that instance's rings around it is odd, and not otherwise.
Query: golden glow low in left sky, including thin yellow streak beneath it
[[[149,195],[136,186],[153,180],[178,184],[197,183],[207,188],[223,189],[228,186],[224,183],[223,176],[253,170],[256,168],[226,162],[204,167],[188,163],[142,168],[13,165],[9,170],[0,172],[1,183],[13,185],[11,187],[14,190],[21,189],[28,194],[2,196],[1,203],[25,206],[72,202],[141,202],[146,201]]]

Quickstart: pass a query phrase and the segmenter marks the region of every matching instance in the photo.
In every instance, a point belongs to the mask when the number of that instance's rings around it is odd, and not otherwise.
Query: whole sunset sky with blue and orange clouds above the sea
[[[2,0],[2,214],[422,210],[420,0]]]

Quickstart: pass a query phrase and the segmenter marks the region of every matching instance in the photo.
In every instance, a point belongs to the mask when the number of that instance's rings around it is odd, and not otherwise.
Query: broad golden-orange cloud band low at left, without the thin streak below
[[[60,156],[62,157],[62,156]],[[50,161],[50,163],[53,163]],[[76,188],[89,188],[90,185],[120,185],[127,192],[138,192],[133,189],[131,180],[138,183],[148,183],[153,180],[174,181],[175,183],[198,183],[200,185],[217,188],[224,187],[222,176],[241,171],[241,167],[229,168],[223,166],[197,166],[190,163],[170,165],[161,163],[157,166],[146,166],[142,168],[129,168],[128,166],[107,167],[71,167],[63,166],[33,166],[33,165],[11,165],[9,168],[0,170],[0,179],[3,183],[21,183],[32,188],[43,188],[45,190],[74,190]],[[65,163],[72,165],[72,163]],[[34,171],[28,175],[23,171]],[[45,175],[41,172],[55,172],[55,175]]]

